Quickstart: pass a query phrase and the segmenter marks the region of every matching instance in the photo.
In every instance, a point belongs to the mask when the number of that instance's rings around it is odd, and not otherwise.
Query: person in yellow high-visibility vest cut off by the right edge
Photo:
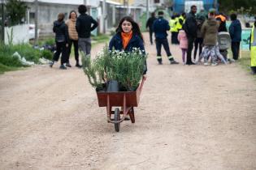
[[[250,68],[252,70],[252,74],[256,74],[256,17],[254,18],[254,26],[252,28],[252,32],[250,34]]]

